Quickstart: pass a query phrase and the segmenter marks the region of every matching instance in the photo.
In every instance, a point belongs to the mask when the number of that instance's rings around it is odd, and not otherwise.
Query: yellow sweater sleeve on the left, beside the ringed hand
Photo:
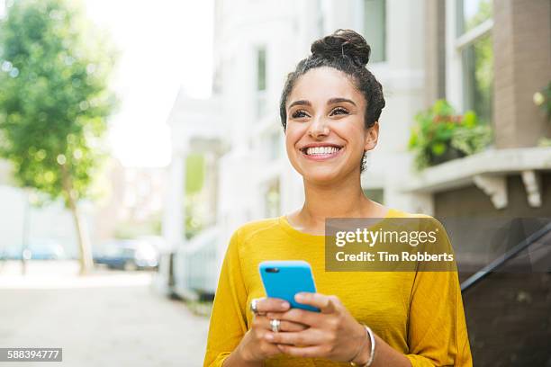
[[[212,305],[203,367],[221,367],[247,332],[247,289],[241,275],[239,230],[230,239]]]

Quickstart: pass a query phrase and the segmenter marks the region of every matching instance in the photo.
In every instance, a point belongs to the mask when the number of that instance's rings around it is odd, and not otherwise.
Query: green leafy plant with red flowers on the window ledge
[[[408,148],[415,153],[415,166],[423,169],[456,157],[481,151],[492,140],[490,126],[472,111],[456,115],[445,100],[415,116]]]

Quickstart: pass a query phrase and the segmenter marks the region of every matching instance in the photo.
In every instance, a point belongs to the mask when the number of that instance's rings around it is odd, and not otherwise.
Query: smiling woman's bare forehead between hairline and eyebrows
[[[333,67],[316,67],[298,78],[287,105],[297,100],[326,103],[336,97],[352,100],[358,106],[364,101],[350,76]]]

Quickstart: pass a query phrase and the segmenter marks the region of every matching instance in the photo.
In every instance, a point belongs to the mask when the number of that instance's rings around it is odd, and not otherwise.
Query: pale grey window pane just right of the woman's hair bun
[[[386,59],[386,14],[385,0],[364,1],[364,36],[371,46],[373,62]]]

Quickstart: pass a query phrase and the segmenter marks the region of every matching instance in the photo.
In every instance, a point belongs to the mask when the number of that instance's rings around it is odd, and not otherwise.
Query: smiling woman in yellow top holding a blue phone
[[[313,42],[312,55],[287,77],[281,121],[305,201],[231,237],[205,366],[472,365],[456,273],[325,272],[325,219],[414,216],[369,200],[360,185],[384,108],[369,54],[362,36],[339,30]],[[321,312],[263,298],[258,264],[290,259],[312,265],[319,291],[296,301]]]

